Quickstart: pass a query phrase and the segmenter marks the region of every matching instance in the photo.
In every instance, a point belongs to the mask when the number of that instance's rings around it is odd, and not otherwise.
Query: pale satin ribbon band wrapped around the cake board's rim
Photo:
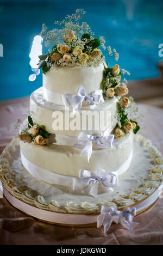
[[[157,188],[151,196],[147,197],[142,202],[130,205],[136,208],[136,215],[147,210],[160,195],[160,188]],[[52,212],[36,208],[32,205],[22,202],[16,197],[12,196],[3,186],[3,193],[5,198],[18,210],[25,214],[35,217],[40,221],[48,222],[51,224],[65,225],[72,227],[95,227],[97,225],[97,214],[84,215],[84,214],[60,214],[59,212]],[[121,209],[124,210],[125,208]]]

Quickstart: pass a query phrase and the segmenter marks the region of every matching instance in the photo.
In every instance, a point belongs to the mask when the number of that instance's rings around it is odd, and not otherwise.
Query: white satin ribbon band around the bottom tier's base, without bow
[[[132,159],[132,152],[130,153],[128,159],[119,167],[112,170],[112,173],[116,172],[116,175],[121,175],[126,172],[128,167],[130,166],[130,162]],[[74,178],[78,178],[77,176],[68,176],[61,175],[57,173],[53,173],[50,170],[41,168],[36,166],[36,164],[30,162],[21,152],[21,160],[23,166],[28,170],[30,174],[32,174],[35,178],[45,181],[52,185],[62,185],[62,186],[71,186],[73,187]]]

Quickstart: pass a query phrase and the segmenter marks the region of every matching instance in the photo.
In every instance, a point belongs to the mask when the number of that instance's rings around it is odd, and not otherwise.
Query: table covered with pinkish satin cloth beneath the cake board
[[[163,154],[163,109],[139,104],[145,117],[141,135],[151,139]],[[24,119],[29,109],[29,99],[8,101],[0,104],[0,153],[5,145],[17,135],[14,125],[18,118]],[[155,204],[134,217],[140,224],[134,231],[112,224],[108,237],[103,227],[74,228],[47,224],[28,217],[0,199],[0,245],[163,245],[163,193]]]

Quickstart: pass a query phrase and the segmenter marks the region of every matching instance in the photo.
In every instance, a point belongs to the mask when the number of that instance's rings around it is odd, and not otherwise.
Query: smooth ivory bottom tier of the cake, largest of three
[[[108,149],[93,150],[89,162],[87,162],[87,154],[80,156],[81,151],[72,146],[49,143],[46,147],[42,147],[20,142],[20,148],[24,166],[29,170],[34,164],[37,169],[42,169],[40,172],[48,178],[48,171],[59,175],[79,176],[80,169],[96,172],[97,168],[104,169],[105,173],[117,170],[118,174],[122,174],[131,161],[133,132],[119,139],[117,144],[118,146]],[[54,183],[50,180],[47,182]]]

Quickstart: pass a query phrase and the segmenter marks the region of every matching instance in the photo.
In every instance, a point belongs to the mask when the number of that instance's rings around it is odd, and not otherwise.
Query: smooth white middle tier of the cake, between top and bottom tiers
[[[71,120],[73,119],[72,114],[72,108],[65,108],[64,106],[57,105],[54,103],[50,103],[46,101],[43,97],[43,89],[42,87],[35,90],[32,95],[30,96],[30,111],[32,112],[32,116],[34,119],[34,122],[38,125],[42,125],[45,127],[46,131],[50,133],[57,133],[60,135],[66,135],[66,136],[73,136],[78,137],[80,132],[86,132],[91,135],[98,136],[103,130],[105,130],[106,126],[106,120],[104,122],[104,125],[102,123],[97,122],[97,117],[95,115],[94,118],[90,120],[91,114],[96,112],[95,114],[98,115],[98,120],[100,121],[101,117],[103,117],[103,114],[106,118],[106,112],[109,113],[109,122],[107,127],[109,127],[110,132],[115,128],[117,124],[117,97],[112,97],[112,99],[106,99],[104,103],[100,103],[97,105],[99,112],[93,111],[89,108],[89,106],[83,106],[81,109],[79,109],[79,113],[76,113],[76,116],[79,115],[80,117],[80,127],[79,129],[72,130],[70,129],[70,126],[68,129],[65,129],[65,123],[66,123],[66,116],[68,115],[69,123],[71,124]],[[60,112],[60,113],[59,113]],[[86,112],[87,117],[83,121],[83,115],[82,113]],[[57,117],[57,115],[62,115],[62,126],[61,129],[54,129],[53,122],[54,122],[54,116]],[[72,118],[71,118],[72,115]],[[66,124],[67,125],[67,124]],[[84,128],[83,128],[84,125]]]

